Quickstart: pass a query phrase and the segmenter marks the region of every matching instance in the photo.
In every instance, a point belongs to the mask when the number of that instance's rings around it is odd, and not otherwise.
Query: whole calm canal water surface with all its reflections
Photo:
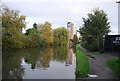
[[[72,48],[43,47],[3,51],[3,79],[75,79]]]

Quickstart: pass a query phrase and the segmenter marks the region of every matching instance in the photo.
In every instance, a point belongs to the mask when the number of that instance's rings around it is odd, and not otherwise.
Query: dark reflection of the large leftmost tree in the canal
[[[2,78],[22,79],[24,68],[21,66],[22,51],[7,51],[2,55]]]

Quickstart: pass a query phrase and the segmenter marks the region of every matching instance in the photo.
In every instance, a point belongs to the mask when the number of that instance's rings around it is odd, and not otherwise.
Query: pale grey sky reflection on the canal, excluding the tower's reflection
[[[51,62],[50,67],[32,70],[30,66],[24,66],[24,79],[74,79],[75,66],[65,66],[65,63]]]

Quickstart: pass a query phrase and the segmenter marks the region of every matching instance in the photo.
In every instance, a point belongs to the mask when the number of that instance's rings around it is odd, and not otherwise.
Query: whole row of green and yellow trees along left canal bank
[[[3,8],[2,11],[2,47],[3,49],[41,47],[54,45],[59,34],[58,45],[68,44],[68,30],[64,27],[52,29],[50,22],[42,25],[33,24],[33,28],[22,33],[22,29],[26,28],[26,16],[20,15],[17,10]],[[38,29],[40,27],[40,29]],[[61,40],[63,39],[63,40]],[[57,44],[57,43],[56,43]]]

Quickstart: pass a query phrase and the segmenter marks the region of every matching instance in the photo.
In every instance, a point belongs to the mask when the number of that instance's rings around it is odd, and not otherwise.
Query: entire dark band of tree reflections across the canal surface
[[[73,54],[73,51],[68,46],[3,51],[2,78],[22,79],[25,74],[24,63],[30,65],[33,70],[47,69],[52,61],[61,63],[69,61],[69,64],[72,64],[72,57],[69,53]]]

